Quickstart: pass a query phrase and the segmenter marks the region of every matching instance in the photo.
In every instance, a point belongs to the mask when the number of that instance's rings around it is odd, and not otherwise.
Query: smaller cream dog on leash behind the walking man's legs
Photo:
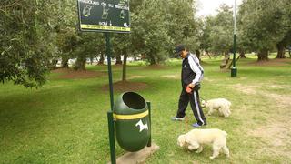
[[[216,98],[210,99],[208,101],[202,100],[201,107],[209,108],[208,115],[211,115],[214,109],[218,110],[219,115],[223,115],[228,118],[231,114],[230,112],[231,102],[226,98]]]

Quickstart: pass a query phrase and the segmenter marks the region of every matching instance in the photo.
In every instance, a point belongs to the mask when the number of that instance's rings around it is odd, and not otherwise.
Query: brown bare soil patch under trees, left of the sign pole
[[[68,68],[55,69],[52,72],[61,73],[58,78],[61,79],[75,79],[75,78],[92,78],[100,77],[104,73],[91,71],[91,70],[73,70]]]

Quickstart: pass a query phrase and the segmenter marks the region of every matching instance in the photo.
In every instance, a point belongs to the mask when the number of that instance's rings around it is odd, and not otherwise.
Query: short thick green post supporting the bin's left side
[[[107,112],[108,119],[108,132],[109,132],[109,144],[110,144],[110,157],[111,163],[116,164],[116,156],[115,156],[115,124],[113,119],[113,112]]]

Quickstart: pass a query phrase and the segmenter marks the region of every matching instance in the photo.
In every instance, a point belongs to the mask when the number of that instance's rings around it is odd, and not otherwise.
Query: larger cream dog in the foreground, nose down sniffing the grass
[[[177,143],[180,147],[189,150],[197,149],[196,153],[203,150],[204,144],[212,144],[213,155],[210,159],[215,159],[219,155],[220,149],[229,157],[229,149],[226,147],[226,131],[209,128],[209,129],[193,129],[186,134],[180,135],[177,138]]]

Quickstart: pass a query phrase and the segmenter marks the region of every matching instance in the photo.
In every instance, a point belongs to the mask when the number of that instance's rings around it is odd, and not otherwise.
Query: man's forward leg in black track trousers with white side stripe
[[[191,108],[193,111],[193,114],[196,118],[197,124],[198,125],[206,125],[206,117],[204,116],[203,110],[201,108],[200,105],[200,101],[199,101],[199,93],[198,91],[194,91],[193,94],[191,94],[189,96],[190,98],[190,104],[191,104]]]

